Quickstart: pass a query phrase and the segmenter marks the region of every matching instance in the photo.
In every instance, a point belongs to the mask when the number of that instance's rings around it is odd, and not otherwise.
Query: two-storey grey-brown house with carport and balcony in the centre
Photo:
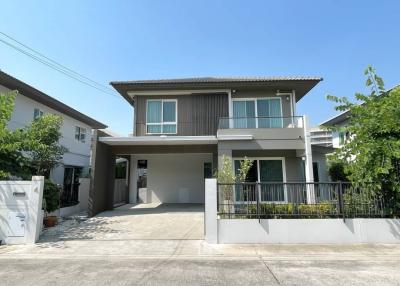
[[[247,181],[313,181],[307,118],[296,104],[321,78],[189,78],[112,82],[135,108],[133,136],[96,132],[91,214],[113,207],[115,158],[129,161],[126,202],[204,203],[204,179],[226,155],[254,160]],[[127,123],[129,124],[129,123]],[[281,189],[274,201],[284,201]]]

